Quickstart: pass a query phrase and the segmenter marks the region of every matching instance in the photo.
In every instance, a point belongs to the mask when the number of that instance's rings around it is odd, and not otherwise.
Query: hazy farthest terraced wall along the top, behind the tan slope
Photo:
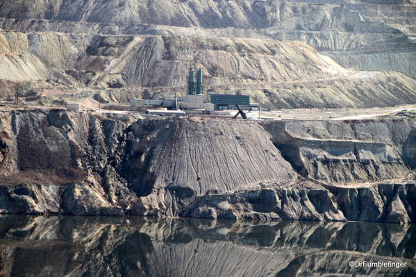
[[[414,1],[17,0],[0,4],[0,28],[299,40],[331,53],[344,67],[415,74],[414,6]]]

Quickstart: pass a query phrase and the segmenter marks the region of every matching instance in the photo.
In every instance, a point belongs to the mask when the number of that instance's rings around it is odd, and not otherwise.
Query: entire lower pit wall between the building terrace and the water
[[[0,113],[0,130],[2,213],[416,221],[410,119],[16,110]]]

